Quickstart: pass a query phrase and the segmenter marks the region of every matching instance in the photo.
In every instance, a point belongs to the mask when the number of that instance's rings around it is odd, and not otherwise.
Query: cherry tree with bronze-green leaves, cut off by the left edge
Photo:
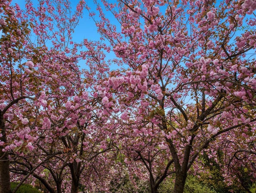
[[[31,75],[36,71],[33,62],[33,54],[36,49],[31,47],[26,39],[30,31],[28,23],[19,22],[16,11],[9,6],[9,1],[0,2],[1,10],[1,67],[0,67],[0,192],[10,191],[9,178],[9,152],[7,150],[23,147],[31,149],[34,138],[30,135],[23,142],[19,140],[9,143],[9,137],[18,129],[17,124],[25,125],[28,118],[19,114],[20,111],[31,111],[34,109],[32,100],[37,93],[38,79]],[[13,110],[16,109],[16,112]],[[15,119],[18,118],[18,119]],[[9,123],[13,121],[16,127],[9,128]],[[25,127],[20,130],[26,130]],[[28,129],[29,130],[29,129]],[[9,136],[9,134],[11,134]],[[19,143],[19,145],[17,145]]]

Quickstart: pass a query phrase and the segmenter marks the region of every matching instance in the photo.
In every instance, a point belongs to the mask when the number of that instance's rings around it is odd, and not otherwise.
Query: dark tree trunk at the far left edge
[[[0,111],[0,140],[6,143],[6,130],[4,125],[3,113]],[[9,172],[9,154],[3,152],[4,146],[0,146],[0,193],[10,193],[10,172]]]

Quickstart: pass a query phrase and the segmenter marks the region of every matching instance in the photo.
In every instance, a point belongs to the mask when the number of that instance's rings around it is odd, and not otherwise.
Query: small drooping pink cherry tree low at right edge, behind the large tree
[[[232,185],[234,182],[239,182],[248,191],[255,178],[255,135],[250,126],[242,129],[245,133],[242,133],[241,136],[235,131],[231,133],[232,136],[223,136],[218,143],[218,151],[224,156],[218,159],[216,159],[218,157],[216,155],[211,157],[215,158],[215,162],[222,166],[222,171],[225,174],[223,177],[227,184]],[[216,154],[216,151],[212,151],[212,149],[209,151],[213,152],[212,155]]]

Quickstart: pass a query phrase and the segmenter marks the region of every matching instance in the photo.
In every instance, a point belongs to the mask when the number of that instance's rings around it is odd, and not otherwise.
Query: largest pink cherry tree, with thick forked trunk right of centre
[[[106,83],[116,98],[106,101],[120,104],[123,122],[133,119],[142,126],[149,120],[153,129],[147,127],[146,133],[162,132],[162,143],[169,146],[175,170],[173,192],[183,192],[187,172],[197,170],[194,163],[204,151],[214,156],[216,145],[227,138],[253,144],[254,2],[102,2],[121,25],[121,32],[100,4],[98,30],[123,64]],[[129,114],[128,108],[136,112]],[[133,135],[143,132],[134,123],[127,129]],[[137,145],[142,142],[137,140]],[[244,153],[255,159],[249,146]]]

